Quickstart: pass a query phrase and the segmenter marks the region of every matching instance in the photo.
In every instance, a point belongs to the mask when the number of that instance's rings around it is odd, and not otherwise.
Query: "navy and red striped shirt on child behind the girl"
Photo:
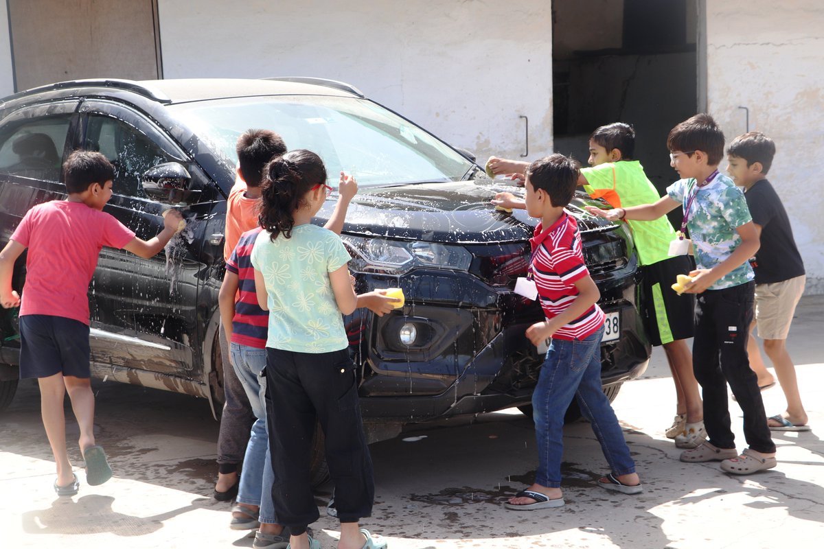
[[[237,275],[235,317],[232,319],[232,343],[264,349],[269,330],[269,312],[260,309],[255,291],[255,268],[251,254],[255,239],[263,230],[256,227],[247,230],[237,241],[232,255],[227,259],[226,270]]]

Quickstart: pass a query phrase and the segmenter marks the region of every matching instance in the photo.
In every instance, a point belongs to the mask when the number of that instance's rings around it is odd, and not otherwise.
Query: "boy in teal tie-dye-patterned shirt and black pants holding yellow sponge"
[[[766,426],[758,379],[747,358],[755,296],[755,275],[747,260],[758,250],[758,234],[741,189],[719,174],[723,144],[721,128],[712,117],[696,114],[672,128],[667,137],[671,165],[682,179],[667,188],[666,197],[644,206],[587,209],[615,221],[657,219],[678,206],[684,208],[681,232],[689,228],[692,242],[681,240],[671,253],[693,249],[698,267],[685,287],[697,294],[692,365],[703,389],[709,440],[683,452],[681,461],[720,461],[723,471],[746,475],[775,467],[775,444]],[[727,384],[744,412],[749,448],[741,455],[730,429]]]

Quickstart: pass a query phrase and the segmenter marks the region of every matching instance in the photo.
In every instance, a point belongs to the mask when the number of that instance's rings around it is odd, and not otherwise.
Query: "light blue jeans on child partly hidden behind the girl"
[[[246,457],[243,458],[237,501],[260,505],[260,522],[276,524],[278,520],[272,502],[274,472],[266,432],[266,377],[260,375],[266,366],[266,350],[232,343],[232,366],[249,397],[256,418],[249,444],[246,445]]]

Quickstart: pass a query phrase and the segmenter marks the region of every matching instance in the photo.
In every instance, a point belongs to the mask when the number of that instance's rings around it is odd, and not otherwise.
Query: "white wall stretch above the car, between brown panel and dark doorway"
[[[455,147],[552,149],[549,2],[159,0],[163,75],[346,81]]]

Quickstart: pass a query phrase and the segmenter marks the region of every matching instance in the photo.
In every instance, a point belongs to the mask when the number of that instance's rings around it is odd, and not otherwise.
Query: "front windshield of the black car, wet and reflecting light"
[[[321,95],[236,97],[169,105],[234,170],[237,137],[266,128],[287,147],[321,156],[361,186],[460,181],[472,164],[445,143],[370,100]]]

